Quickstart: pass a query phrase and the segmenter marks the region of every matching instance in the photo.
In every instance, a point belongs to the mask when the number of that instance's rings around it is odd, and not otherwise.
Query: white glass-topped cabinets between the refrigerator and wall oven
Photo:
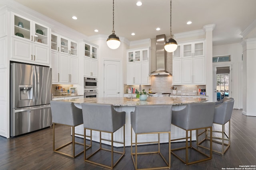
[[[78,44],[56,33],[51,35],[52,82],[78,83]]]

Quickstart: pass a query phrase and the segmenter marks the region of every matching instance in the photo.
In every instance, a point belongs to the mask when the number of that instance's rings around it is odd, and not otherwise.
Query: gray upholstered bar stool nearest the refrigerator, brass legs
[[[75,127],[83,124],[82,109],[74,106],[73,102],[51,101],[50,104],[53,124],[53,150],[56,153],[75,158],[76,156],[84,152],[84,150],[82,150],[78,154],[75,154],[75,144],[84,145],[84,143],[79,143],[75,141],[75,135],[81,135],[75,133]],[[55,124],[72,127],[72,141],[58,148],[55,148]],[[66,150],[64,152],[59,151],[60,149],[67,147],[70,144],[72,144],[72,154],[67,154]]]

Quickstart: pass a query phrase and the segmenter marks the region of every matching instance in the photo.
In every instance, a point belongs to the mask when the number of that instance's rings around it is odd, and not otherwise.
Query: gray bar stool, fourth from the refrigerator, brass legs
[[[204,102],[204,103],[194,103],[194,104],[187,104],[186,107],[179,111],[172,111],[172,125],[175,125],[183,130],[186,131],[186,137],[180,139],[172,139],[171,141],[177,141],[181,139],[186,139],[186,146],[180,147],[176,149],[171,149],[171,153],[174,154],[178,159],[180,159],[184,164],[190,165],[198,162],[202,162],[205,160],[212,159],[212,138],[210,138],[210,153],[206,154],[192,146],[192,131],[196,130],[198,133],[198,129],[205,129],[210,128],[210,133],[212,133],[212,123],[213,123],[213,116],[214,116],[214,102]],[[188,132],[190,132],[190,136],[188,136]],[[190,145],[188,145],[188,139],[190,139]],[[185,160],[183,160],[178,154],[174,151],[186,149],[186,156]],[[197,160],[189,161],[189,149],[194,149],[204,158]],[[199,156],[199,155],[198,155]],[[191,158],[192,156],[190,156]]]

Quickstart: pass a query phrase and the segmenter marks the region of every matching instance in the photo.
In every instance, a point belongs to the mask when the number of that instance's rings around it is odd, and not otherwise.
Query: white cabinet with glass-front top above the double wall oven
[[[98,48],[87,43],[81,43],[84,56],[84,76],[98,77]]]

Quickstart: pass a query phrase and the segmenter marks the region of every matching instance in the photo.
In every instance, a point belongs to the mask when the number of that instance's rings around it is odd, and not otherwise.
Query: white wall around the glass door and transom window
[[[242,109],[242,74],[240,74],[242,72],[242,45],[240,43],[216,45],[212,49],[213,56],[230,55],[230,62],[218,64],[232,64],[232,98],[235,100],[234,108]]]

